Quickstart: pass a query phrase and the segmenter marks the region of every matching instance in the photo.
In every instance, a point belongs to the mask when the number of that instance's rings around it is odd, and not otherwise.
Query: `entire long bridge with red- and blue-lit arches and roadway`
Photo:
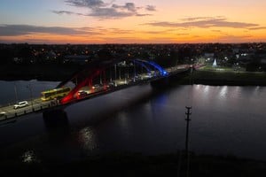
[[[191,65],[163,68],[153,61],[142,59],[93,62],[84,65],[80,71],[74,73],[70,79],[60,82],[56,88],[43,92],[42,97],[25,100],[27,106],[15,109],[13,104],[7,104],[0,107],[0,122],[12,122],[20,116],[34,112],[63,110],[70,104],[139,84],[150,82],[153,85],[166,81],[171,76],[189,72],[191,68]],[[65,88],[66,92],[59,91]],[[51,93],[58,95],[52,97]]]

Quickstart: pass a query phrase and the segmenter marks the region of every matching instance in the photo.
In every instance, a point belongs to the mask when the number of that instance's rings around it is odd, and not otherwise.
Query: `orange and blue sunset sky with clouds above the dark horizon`
[[[266,0],[0,0],[0,42],[266,42]]]

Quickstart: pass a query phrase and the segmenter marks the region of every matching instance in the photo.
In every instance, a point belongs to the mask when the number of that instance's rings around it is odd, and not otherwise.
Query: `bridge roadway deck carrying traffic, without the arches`
[[[139,74],[137,77],[130,78],[130,79],[121,79],[113,81],[114,84],[107,85],[107,86],[100,86],[98,85],[98,88],[95,89],[89,89],[89,87],[82,88],[82,91],[86,92],[85,96],[75,96],[75,99],[67,104],[60,104],[59,100],[51,100],[51,101],[45,101],[43,102],[41,100],[41,97],[37,97],[34,99],[28,99],[28,105],[26,107],[21,107],[18,109],[14,109],[13,104],[6,104],[6,106],[0,107],[0,122],[3,123],[9,123],[12,121],[16,121],[17,118],[20,116],[34,113],[34,112],[49,112],[51,110],[56,109],[64,109],[69,104],[74,104],[80,101],[84,101],[87,99],[90,99],[95,96],[101,96],[108,93],[111,93],[113,91],[117,91],[120,89],[129,88],[134,85],[139,85],[151,81],[160,80],[162,78],[166,78],[171,75],[175,75],[177,73],[184,73],[188,71],[191,67],[189,65],[176,65],[174,67],[168,67],[165,70],[168,72],[167,76],[151,76],[146,74]]]

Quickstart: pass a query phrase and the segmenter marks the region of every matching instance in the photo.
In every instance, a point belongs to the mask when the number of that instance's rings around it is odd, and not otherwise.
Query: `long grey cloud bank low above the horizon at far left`
[[[16,36],[31,34],[53,35],[98,35],[92,28],[41,27],[30,25],[0,25],[0,36]]]

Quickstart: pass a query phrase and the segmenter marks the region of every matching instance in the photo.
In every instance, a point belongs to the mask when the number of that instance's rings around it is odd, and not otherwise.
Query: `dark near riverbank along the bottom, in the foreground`
[[[59,164],[55,161],[40,162],[0,161],[2,176],[31,174],[32,176],[185,176],[184,152],[145,156],[133,152],[109,152],[92,155],[82,160]],[[253,177],[266,173],[266,162],[233,156],[190,154],[189,176],[241,176]]]

